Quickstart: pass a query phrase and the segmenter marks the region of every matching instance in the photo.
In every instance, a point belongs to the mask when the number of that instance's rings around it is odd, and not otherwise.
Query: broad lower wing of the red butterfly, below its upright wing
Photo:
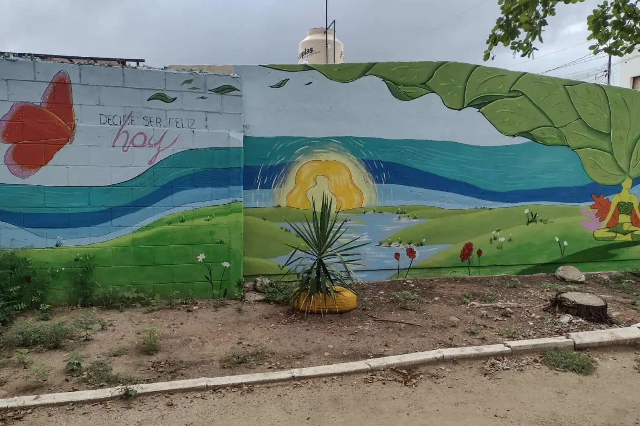
[[[48,164],[71,136],[72,130],[56,114],[28,102],[16,102],[0,119],[0,142],[13,144],[4,163],[23,179]]]

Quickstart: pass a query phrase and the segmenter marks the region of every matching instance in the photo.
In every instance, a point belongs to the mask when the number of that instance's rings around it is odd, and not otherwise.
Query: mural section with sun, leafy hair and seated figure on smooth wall
[[[300,244],[285,219],[302,220],[322,193],[370,242],[363,280],[395,278],[407,248],[409,276],[478,262],[480,274],[606,271],[640,258],[637,91],[451,62],[241,74],[289,107],[275,128],[252,120],[263,104],[245,97],[247,275],[278,273]]]

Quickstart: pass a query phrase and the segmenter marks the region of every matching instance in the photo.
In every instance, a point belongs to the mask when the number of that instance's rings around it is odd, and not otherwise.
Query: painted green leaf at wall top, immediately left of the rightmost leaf
[[[602,86],[582,83],[567,86],[566,91],[583,122],[601,132],[611,132],[609,99]]]

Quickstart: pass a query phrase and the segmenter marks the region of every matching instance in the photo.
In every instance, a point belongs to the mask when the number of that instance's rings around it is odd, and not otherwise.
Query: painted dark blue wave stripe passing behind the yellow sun
[[[620,187],[600,185],[595,182],[575,187],[550,187],[540,189],[518,189],[516,191],[490,191],[476,185],[460,182],[442,176],[420,171],[394,162],[364,160],[365,168],[371,174],[376,184],[404,185],[422,189],[433,189],[447,193],[460,194],[479,200],[496,201],[499,203],[532,203],[536,201],[551,201],[557,203],[584,203],[592,201],[591,194],[603,193],[605,196],[618,193]],[[260,188],[271,187],[273,179],[280,175],[289,164],[277,166],[244,167],[244,189],[258,188],[258,173],[260,172]],[[383,178],[384,173],[384,178]],[[266,181],[266,183],[265,183]],[[634,185],[640,180],[634,180]]]

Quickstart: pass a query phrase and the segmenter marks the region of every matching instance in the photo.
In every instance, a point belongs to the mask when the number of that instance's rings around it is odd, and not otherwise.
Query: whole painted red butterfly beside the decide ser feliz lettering
[[[4,154],[4,164],[13,175],[26,179],[72,143],[75,131],[71,79],[60,71],[51,79],[39,106],[15,102],[0,119],[0,142],[13,144]]]

